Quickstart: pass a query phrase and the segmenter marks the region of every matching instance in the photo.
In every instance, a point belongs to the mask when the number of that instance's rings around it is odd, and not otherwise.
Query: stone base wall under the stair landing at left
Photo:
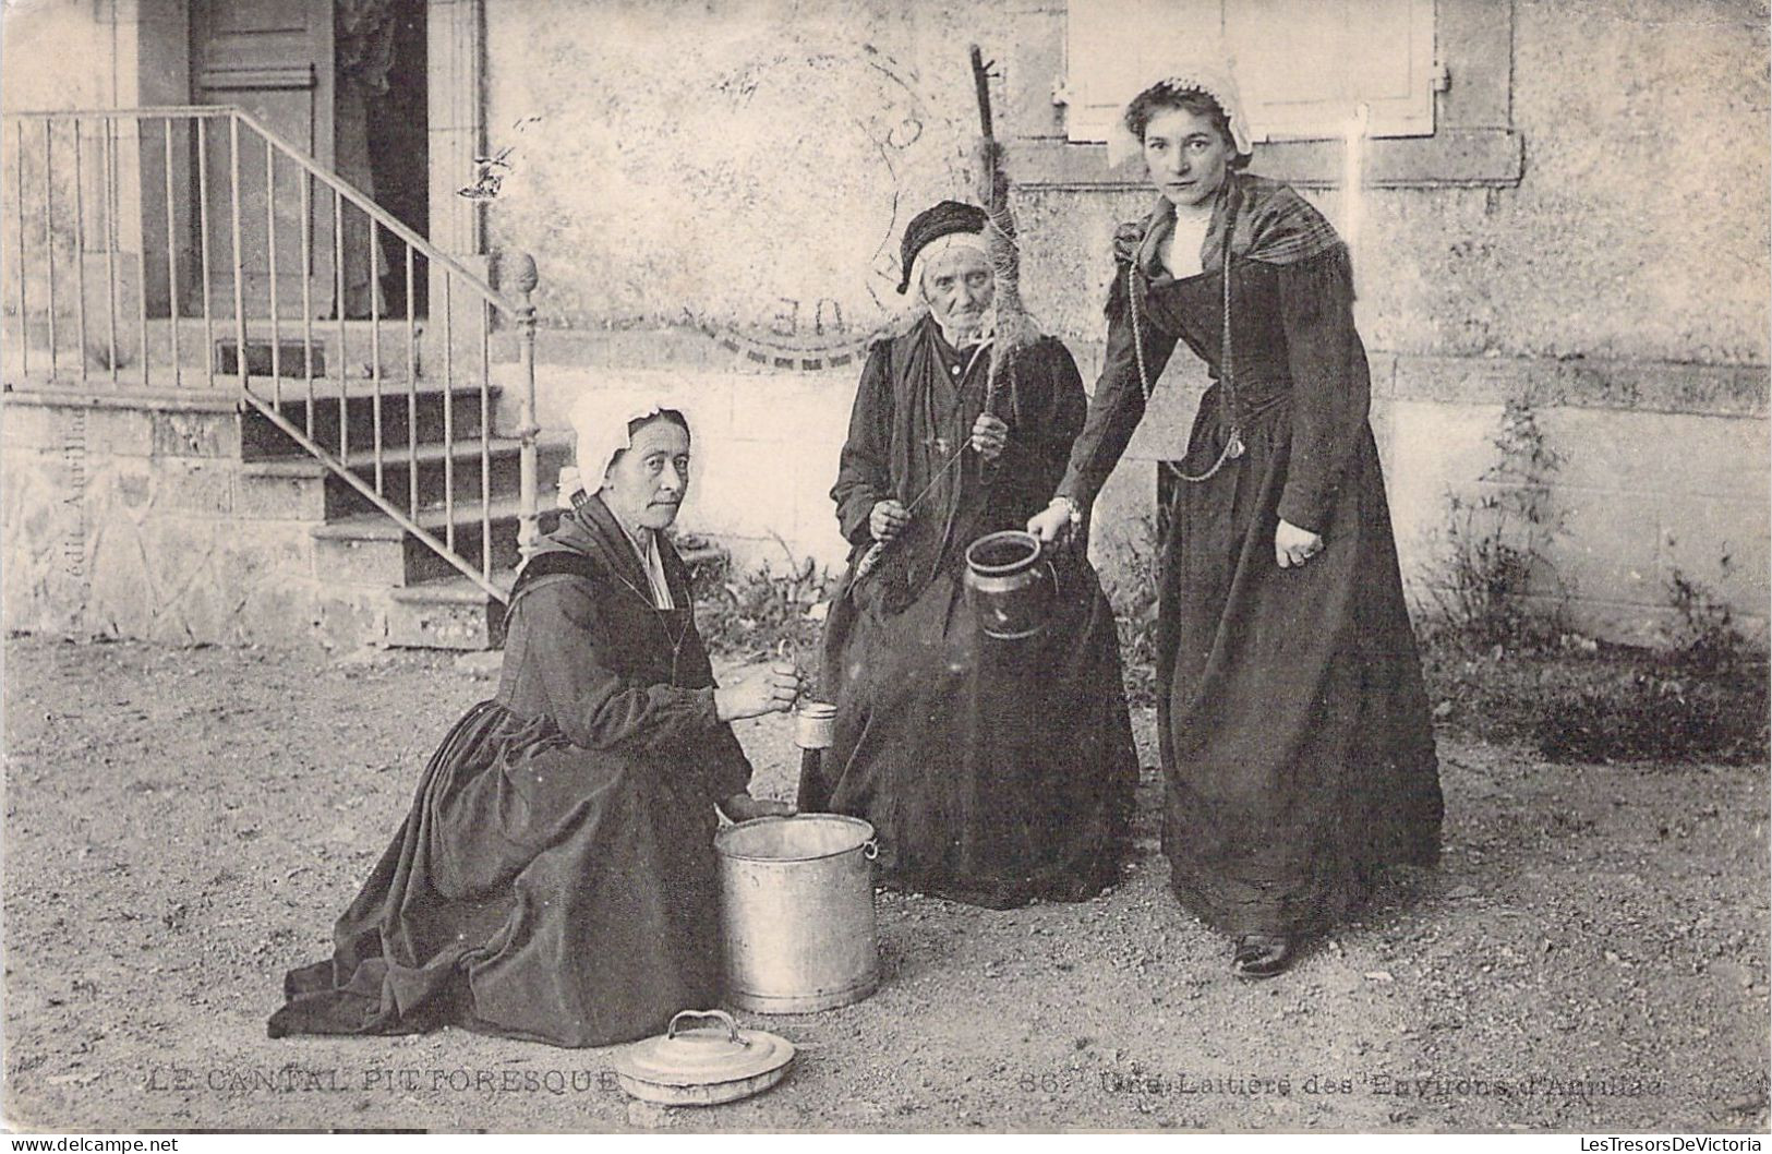
[[[319,472],[243,463],[239,420],[225,399],[9,392],[5,628],[175,645],[354,647],[385,635],[385,587],[315,569]]]

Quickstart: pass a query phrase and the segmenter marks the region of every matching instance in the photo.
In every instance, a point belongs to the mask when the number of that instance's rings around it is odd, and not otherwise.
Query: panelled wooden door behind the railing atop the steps
[[[291,145],[333,168],[333,4],[331,0],[191,0],[191,99],[234,105]],[[303,278],[314,316],[333,310],[331,190],[312,181],[308,259],[301,252],[303,170],[287,156],[266,179],[266,144],[239,133],[237,158],[229,122],[206,128],[209,181],[209,292],[214,316],[234,316],[234,206],[237,163],[241,291],[248,317],[271,307],[271,213],[276,236],[276,314],[301,317]],[[347,211],[349,209],[347,206]],[[202,287],[197,285],[200,292]],[[202,300],[193,301],[197,308]]]

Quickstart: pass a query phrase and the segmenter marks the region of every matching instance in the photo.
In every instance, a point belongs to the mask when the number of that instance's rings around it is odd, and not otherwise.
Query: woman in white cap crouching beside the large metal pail
[[[441,1025],[556,1046],[663,1030],[719,993],[714,807],[746,792],[728,725],[785,711],[787,670],[718,688],[682,560],[659,532],[688,489],[689,425],[574,413],[578,493],[517,574],[498,695],[455,723],[404,826],[285,979],[285,1033]]]

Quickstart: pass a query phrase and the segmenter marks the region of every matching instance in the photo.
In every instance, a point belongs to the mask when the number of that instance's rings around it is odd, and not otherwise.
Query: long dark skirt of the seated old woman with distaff
[[[902,613],[833,604],[836,739],[799,805],[870,821],[888,885],[1005,908],[1113,883],[1138,784],[1113,612],[1086,562],[1060,585],[1017,642],[985,638],[950,574]]]

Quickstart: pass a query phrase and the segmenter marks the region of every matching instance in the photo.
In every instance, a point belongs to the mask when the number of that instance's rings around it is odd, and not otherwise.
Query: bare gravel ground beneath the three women
[[[1136,862],[1077,906],[879,897],[881,991],[760,1018],[789,1080],[631,1103],[613,1051],[264,1037],[289,966],[496,665],[5,647],[5,1092],[18,1129],[1763,1131],[1765,766],[1442,741],[1446,854],[1265,984]],[[1152,718],[1136,718],[1150,750]],[[789,796],[781,718],[741,725]],[[1154,760],[1154,753],[1148,753]]]

